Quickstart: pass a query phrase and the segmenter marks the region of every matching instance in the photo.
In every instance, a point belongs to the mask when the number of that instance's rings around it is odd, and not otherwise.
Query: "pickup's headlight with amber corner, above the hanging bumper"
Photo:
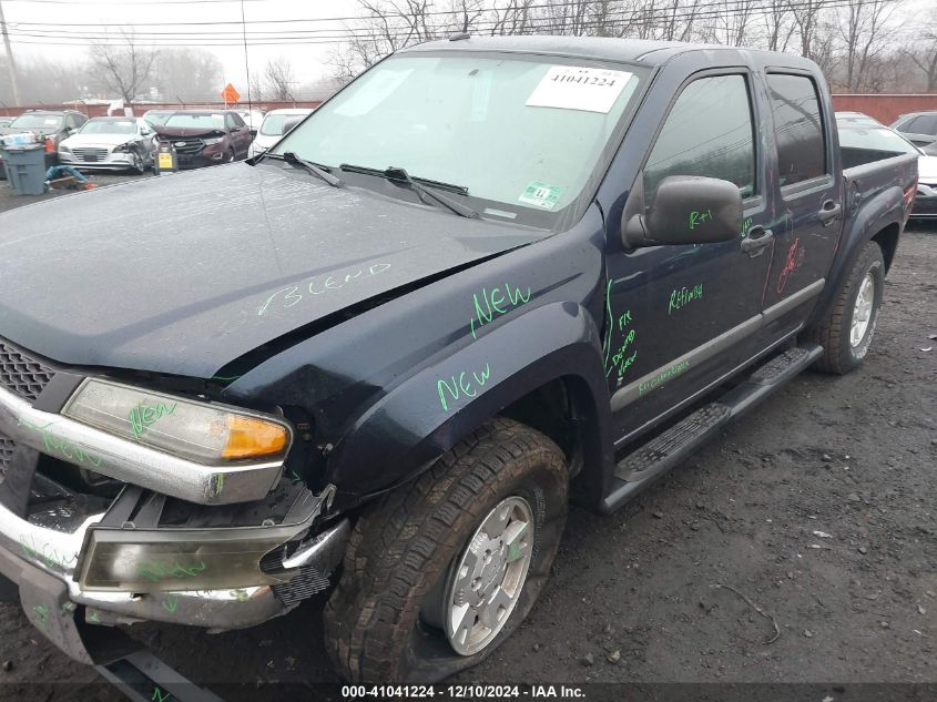
[[[279,458],[289,427],[274,418],[108,380],[85,380],[62,414],[109,434],[203,464]]]

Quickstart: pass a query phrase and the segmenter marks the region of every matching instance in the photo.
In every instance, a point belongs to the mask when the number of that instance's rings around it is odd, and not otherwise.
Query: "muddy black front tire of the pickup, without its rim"
[[[325,610],[326,650],[339,675],[349,682],[429,683],[483,660],[523,620],[547,581],[566,525],[568,481],[566,458],[553,441],[497,418],[416,481],[384,496],[358,519]],[[498,635],[478,653],[459,655],[420,609],[435,601],[482,518],[511,495],[533,511],[527,581]]]

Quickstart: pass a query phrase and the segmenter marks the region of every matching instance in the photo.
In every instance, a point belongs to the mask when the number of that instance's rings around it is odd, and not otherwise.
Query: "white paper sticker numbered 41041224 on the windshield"
[[[608,114],[631,77],[628,71],[551,65],[530,93],[527,105]]]

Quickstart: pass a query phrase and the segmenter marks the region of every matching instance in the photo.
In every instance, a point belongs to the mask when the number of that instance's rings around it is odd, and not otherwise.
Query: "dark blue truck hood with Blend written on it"
[[[211,378],[297,327],[546,232],[245,163],[0,214],[0,337],[67,365]]]

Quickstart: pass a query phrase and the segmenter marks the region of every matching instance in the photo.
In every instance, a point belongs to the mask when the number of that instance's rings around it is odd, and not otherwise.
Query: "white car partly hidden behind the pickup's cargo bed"
[[[841,120],[838,112],[836,126],[839,130],[843,165],[847,169],[904,154],[915,154],[918,171],[917,194],[910,216],[921,220],[937,218],[937,155],[915,146],[893,129]]]

